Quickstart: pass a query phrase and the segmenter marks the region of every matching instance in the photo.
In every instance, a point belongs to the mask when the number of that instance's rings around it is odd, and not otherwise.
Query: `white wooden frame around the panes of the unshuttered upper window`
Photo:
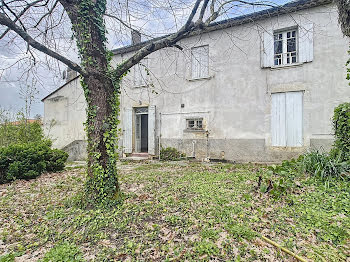
[[[293,32],[295,32],[295,36],[293,37]],[[291,37],[288,38],[288,33],[291,34]],[[282,38],[276,39],[276,36],[279,38],[279,35],[282,35]],[[295,39],[295,51],[288,52],[288,40]],[[282,53],[276,53],[276,40],[282,41]],[[295,53],[295,55],[293,55]],[[273,32],[273,67],[282,67],[282,66],[291,66],[297,65],[299,63],[299,28],[291,27],[279,29]],[[277,58],[276,56],[280,56]],[[293,57],[295,57],[295,61],[293,62]],[[276,61],[278,61],[276,63]],[[288,61],[289,60],[289,61]]]

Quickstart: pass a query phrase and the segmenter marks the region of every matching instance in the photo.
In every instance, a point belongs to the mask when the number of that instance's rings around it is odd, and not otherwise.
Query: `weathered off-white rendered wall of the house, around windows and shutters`
[[[309,23],[314,25],[312,62],[261,68],[264,32]],[[157,113],[162,113],[163,139],[206,138],[205,133],[184,132],[187,117],[203,117],[210,139],[260,139],[266,150],[273,152],[271,93],[304,91],[305,147],[311,139],[332,139],[333,109],[350,97],[345,79],[348,39],[342,36],[334,5],[192,36],[179,45],[183,51],[166,48],[148,57],[151,76],[147,87],[134,87],[133,69],[123,79],[121,121],[125,108],[156,105]],[[209,45],[210,78],[191,80],[190,49],[200,45]],[[116,55],[113,62],[117,64],[130,55]],[[85,111],[81,102],[83,95],[79,92],[82,91],[78,84],[71,83],[52,96],[62,95],[68,97],[68,105],[74,100],[81,105],[80,108],[74,103],[68,106],[66,123],[51,130],[51,134],[59,138],[55,143],[58,147],[83,138],[81,123]],[[45,101],[45,123],[50,118],[49,112],[53,112],[52,106]],[[159,115],[157,117],[159,121]],[[158,136],[159,123],[156,128]]]

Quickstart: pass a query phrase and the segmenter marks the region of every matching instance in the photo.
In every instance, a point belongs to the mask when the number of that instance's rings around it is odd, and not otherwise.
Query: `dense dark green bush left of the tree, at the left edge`
[[[50,142],[42,141],[0,148],[0,184],[63,170],[68,154],[50,146]]]

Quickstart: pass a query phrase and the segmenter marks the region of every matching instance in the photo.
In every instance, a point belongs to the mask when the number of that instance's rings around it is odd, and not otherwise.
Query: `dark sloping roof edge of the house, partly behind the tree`
[[[292,2],[289,2],[289,3],[282,5],[282,6],[272,7],[272,8],[268,8],[268,9],[265,9],[265,10],[262,10],[259,12],[254,12],[254,13],[247,14],[247,15],[237,16],[237,17],[233,17],[233,18],[218,21],[218,22],[213,22],[207,28],[194,31],[191,34],[189,34],[188,36],[198,35],[201,33],[207,33],[207,32],[211,32],[211,31],[215,31],[215,30],[219,30],[219,29],[225,29],[225,28],[229,28],[229,27],[233,27],[233,26],[252,23],[252,22],[256,22],[256,21],[263,20],[266,18],[271,18],[271,17],[283,15],[283,14],[290,14],[290,13],[293,13],[296,11],[300,11],[300,10],[304,10],[304,9],[308,9],[308,8],[312,8],[312,7],[316,7],[316,6],[320,6],[320,5],[330,4],[332,2],[333,2],[333,0],[297,0],[297,1],[292,1]],[[151,43],[151,41],[157,41],[157,40],[160,40],[166,36],[167,35],[153,38],[151,40],[147,40],[147,41],[135,44],[135,45],[129,45],[129,46],[117,48],[117,49],[112,50],[112,52],[113,52],[113,54],[116,55],[116,54],[125,54],[125,53],[129,53],[132,51],[136,51],[136,50],[139,50],[140,48],[146,46],[147,44]],[[78,77],[79,76],[76,76],[75,78],[71,79],[70,81],[68,81],[67,83],[65,83],[64,85],[62,85],[61,87],[59,87],[58,89],[53,91],[52,93],[45,96],[41,101],[43,102],[49,96],[53,95],[54,93],[56,93],[57,91],[59,91],[60,89],[62,89],[63,87],[65,87],[67,84],[69,84],[70,82],[72,82],[73,80],[75,80]]]

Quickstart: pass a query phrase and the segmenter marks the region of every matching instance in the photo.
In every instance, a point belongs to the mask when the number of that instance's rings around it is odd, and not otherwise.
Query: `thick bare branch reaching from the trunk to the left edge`
[[[24,41],[26,41],[33,48],[47,54],[48,56],[51,56],[51,57],[61,61],[62,63],[66,64],[69,68],[79,72],[81,75],[86,75],[86,73],[83,71],[83,69],[78,64],[76,64],[76,63],[70,61],[69,59],[65,58],[64,56],[48,49],[43,44],[40,44],[38,41],[33,39],[26,31],[24,31],[22,28],[20,28],[18,25],[16,25],[5,14],[0,13],[0,24],[5,25],[9,29],[15,31],[20,37],[23,38]]]

